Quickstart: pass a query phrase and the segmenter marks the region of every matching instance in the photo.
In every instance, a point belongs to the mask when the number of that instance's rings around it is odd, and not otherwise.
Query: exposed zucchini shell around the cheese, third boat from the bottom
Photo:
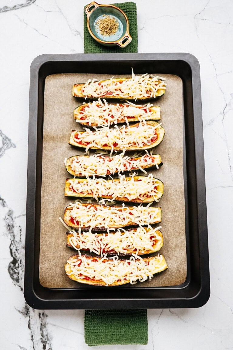
[[[91,206],[91,207],[95,207],[95,208],[98,208],[98,207],[100,207],[101,205],[100,204],[88,204],[88,203],[82,203],[82,207],[88,207],[88,206]],[[104,208],[106,208],[107,206],[106,205],[103,205],[103,207]],[[112,208],[115,208],[115,209],[122,209],[122,207],[121,206],[119,206],[119,205],[112,205],[111,206]],[[128,207],[130,210],[131,209],[133,209],[133,207]],[[156,221],[151,221],[149,224],[150,225],[152,225],[152,224],[159,224],[159,223],[161,223],[161,220],[162,220],[162,209],[161,209],[161,207],[150,207],[151,209],[153,209],[153,208],[156,208],[156,209],[158,209],[158,215],[157,215],[157,217],[158,217],[158,219],[156,219]],[[70,228],[72,228],[72,229],[74,229],[74,230],[79,230],[80,228],[81,228],[81,230],[82,231],[89,231],[90,230],[90,225],[89,226],[80,226],[80,225],[75,225],[75,224],[73,224],[71,221],[70,221],[70,219],[69,219],[69,217],[70,217],[70,208],[69,208],[69,206],[68,207],[66,207],[65,208],[65,212],[64,212],[64,222],[65,222],[65,224],[66,225],[68,225]],[[77,219],[78,220],[78,219]],[[135,223],[135,222],[133,222],[133,221],[130,221],[130,222],[128,222],[128,224],[127,225],[124,225],[124,224],[122,224],[121,225],[121,227],[119,227],[118,225],[112,225],[112,226],[110,226],[109,228],[110,229],[118,229],[118,228],[122,228],[122,227],[124,227],[124,228],[134,228],[134,227],[138,227],[139,225],[137,224],[137,223]],[[147,224],[145,224],[144,226],[147,226]],[[107,229],[104,227],[104,226],[95,226],[95,227],[93,227],[93,229],[92,229],[92,232],[94,232],[94,231],[96,231],[96,232],[106,232],[107,231]]]

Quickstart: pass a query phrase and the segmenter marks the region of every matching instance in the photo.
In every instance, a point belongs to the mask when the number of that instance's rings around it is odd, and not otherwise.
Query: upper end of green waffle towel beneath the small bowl
[[[129,20],[129,31],[132,41],[125,48],[119,46],[107,47],[97,43],[87,29],[87,15],[84,12],[84,52],[85,54],[107,54],[107,53],[131,53],[138,52],[138,24],[137,24],[137,7],[134,2],[114,3],[119,7]],[[86,6],[85,6],[86,7]]]

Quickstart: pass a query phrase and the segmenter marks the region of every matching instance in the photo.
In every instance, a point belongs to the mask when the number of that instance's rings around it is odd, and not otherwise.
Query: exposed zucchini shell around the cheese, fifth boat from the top
[[[147,176],[143,176],[143,175],[140,175],[140,176],[134,176],[134,181],[138,181],[140,180],[140,178],[142,177],[147,177]],[[125,177],[125,180],[127,179],[131,179],[131,176],[129,177]],[[160,198],[163,196],[163,182],[159,179],[156,179],[155,177],[153,178],[155,181],[158,181],[159,184],[158,186],[156,186],[159,191],[158,193],[158,200],[160,200]],[[65,196],[66,197],[93,197],[93,195],[91,194],[87,194],[87,195],[83,195],[82,193],[75,193],[75,192],[72,192],[71,193],[71,190],[69,188],[69,183],[68,181],[69,180],[74,180],[74,181],[78,181],[78,182],[85,182],[86,179],[66,179],[66,184],[65,184]],[[112,181],[112,180],[107,180],[107,181]],[[119,179],[114,179],[114,182],[118,182]],[[112,196],[101,196],[101,197],[98,197],[98,198],[104,198],[104,199],[112,199]],[[141,200],[140,198],[136,198],[135,200],[129,200],[127,197],[116,197],[115,198],[116,201],[119,201],[119,202],[130,202],[130,203],[150,203],[150,202],[153,202],[154,199],[153,197],[148,197],[148,198],[145,198],[144,200]]]

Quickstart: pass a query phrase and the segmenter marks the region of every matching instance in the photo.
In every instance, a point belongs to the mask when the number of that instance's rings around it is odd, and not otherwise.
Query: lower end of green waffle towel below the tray
[[[146,309],[85,310],[85,343],[94,345],[148,342]]]

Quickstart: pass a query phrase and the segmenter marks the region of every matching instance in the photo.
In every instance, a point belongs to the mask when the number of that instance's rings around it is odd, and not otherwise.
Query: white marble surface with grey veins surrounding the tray
[[[33,310],[22,288],[30,63],[83,52],[87,1],[18,2],[0,0],[0,348],[84,350],[84,311]],[[139,52],[190,52],[200,63],[211,296],[199,309],[148,310],[146,346],[98,348],[233,349],[233,1],[136,3]]]

